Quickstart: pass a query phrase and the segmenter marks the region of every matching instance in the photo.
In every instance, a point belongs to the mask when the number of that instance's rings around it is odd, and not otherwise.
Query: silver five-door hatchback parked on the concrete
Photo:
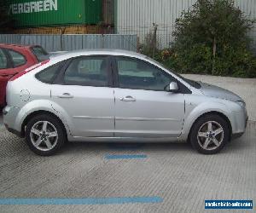
[[[7,104],[6,128],[39,155],[65,141],[189,141],[213,154],[247,125],[238,95],[122,50],[56,55],[12,78]]]

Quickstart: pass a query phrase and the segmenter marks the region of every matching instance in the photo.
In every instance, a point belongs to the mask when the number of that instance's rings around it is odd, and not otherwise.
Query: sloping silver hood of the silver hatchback
[[[212,84],[208,83],[201,83],[201,92],[204,95],[230,100],[230,101],[243,101],[240,96],[236,95],[235,93],[231,92],[230,90],[223,89],[217,86],[213,86]]]

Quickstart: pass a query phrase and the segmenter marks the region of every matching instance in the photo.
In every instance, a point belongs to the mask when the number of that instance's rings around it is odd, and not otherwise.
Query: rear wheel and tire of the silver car
[[[25,136],[28,147],[41,156],[55,154],[67,141],[61,122],[48,114],[40,114],[29,120]]]

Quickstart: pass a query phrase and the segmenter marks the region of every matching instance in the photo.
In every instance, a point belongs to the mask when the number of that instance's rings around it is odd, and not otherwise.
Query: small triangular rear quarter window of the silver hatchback
[[[55,77],[61,71],[61,68],[64,66],[65,61],[61,61],[54,66],[49,66],[41,72],[36,74],[36,78],[43,83],[53,83]]]

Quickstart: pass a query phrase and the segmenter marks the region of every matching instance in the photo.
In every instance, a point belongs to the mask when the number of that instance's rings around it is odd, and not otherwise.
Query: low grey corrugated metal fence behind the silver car
[[[0,43],[41,45],[49,52],[75,49],[125,49],[137,51],[137,35],[84,34],[84,35],[36,35],[0,34]]]

